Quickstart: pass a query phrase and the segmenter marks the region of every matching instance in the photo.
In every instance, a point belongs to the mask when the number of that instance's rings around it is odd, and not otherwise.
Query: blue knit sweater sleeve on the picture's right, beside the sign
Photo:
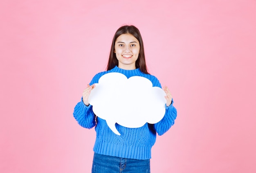
[[[166,111],[164,114],[164,118],[160,120],[158,123],[154,124],[155,131],[157,132],[158,135],[163,135],[168,129],[171,128],[172,125],[174,125],[174,120],[177,117],[177,110],[173,106],[173,100],[170,106],[166,106]]]

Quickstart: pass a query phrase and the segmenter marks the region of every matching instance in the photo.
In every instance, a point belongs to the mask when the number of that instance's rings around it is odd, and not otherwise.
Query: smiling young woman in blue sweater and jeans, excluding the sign
[[[81,102],[74,108],[74,118],[79,125],[88,129],[95,126],[97,135],[93,148],[92,173],[150,173],[151,148],[155,144],[156,134],[162,135],[170,129],[177,116],[171,93],[166,86],[163,88],[166,93],[166,112],[161,121],[146,123],[139,128],[116,124],[121,134],[119,136],[112,132],[106,120],[94,114],[88,102],[90,92],[95,88],[94,83],[98,83],[101,76],[110,72],[122,73],[127,78],[145,77],[153,83],[153,87],[161,88],[158,79],[147,72],[139,30],[135,26],[120,27],[112,41],[107,71],[93,77],[83,91]]]

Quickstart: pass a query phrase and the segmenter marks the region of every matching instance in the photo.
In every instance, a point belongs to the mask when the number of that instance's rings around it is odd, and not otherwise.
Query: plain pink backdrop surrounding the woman
[[[134,24],[178,116],[153,173],[255,173],[255,0],[2,0],[0,172],[89,173],[94,129],[74,106]]]

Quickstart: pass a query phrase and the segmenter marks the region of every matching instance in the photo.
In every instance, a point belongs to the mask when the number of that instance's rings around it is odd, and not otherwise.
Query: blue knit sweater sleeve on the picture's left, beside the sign
[[[96,125],[95,114],[92,111],[92,105],[86,106],[83,98],[76,104],[73,113],[74,118],[79,125],[87,129],[91,129]]]

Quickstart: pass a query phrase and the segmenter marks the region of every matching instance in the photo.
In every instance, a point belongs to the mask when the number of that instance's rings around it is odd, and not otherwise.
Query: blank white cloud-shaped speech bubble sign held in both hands
[[[91,91],[89,103],[98,117],[106,120],[117,135],[115,123],[128,128],[159,122],[165,114],[164,90],[153,87],[145,77],[111,72],[104,74]]]

